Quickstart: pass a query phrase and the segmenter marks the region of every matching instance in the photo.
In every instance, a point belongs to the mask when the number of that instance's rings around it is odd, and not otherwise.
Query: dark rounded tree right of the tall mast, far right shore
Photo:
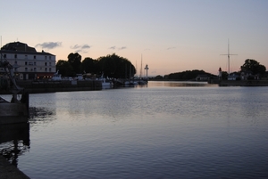
[[[251,71],[252,75],[264,75],[266,71],[266,67],[264,65],[261,65],[258,61],[253,59],[247,59],[240,69],[241,71]]]

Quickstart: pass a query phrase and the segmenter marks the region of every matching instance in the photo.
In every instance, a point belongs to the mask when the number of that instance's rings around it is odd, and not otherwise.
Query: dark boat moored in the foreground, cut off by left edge
[[[2,54],[0,69],[3,74],[0,77],[0,90],[12,95],[10,102],[0,96],[0,125],[27,122],[29,94],[16,84],[13,66],[8,61],[2,61]]]

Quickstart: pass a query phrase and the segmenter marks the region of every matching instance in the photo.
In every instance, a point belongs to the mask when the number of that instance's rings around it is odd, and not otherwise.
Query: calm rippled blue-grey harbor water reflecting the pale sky
[[[17,163],[32,179],[268,178],[268,87],[150,81],[29,97]]]

